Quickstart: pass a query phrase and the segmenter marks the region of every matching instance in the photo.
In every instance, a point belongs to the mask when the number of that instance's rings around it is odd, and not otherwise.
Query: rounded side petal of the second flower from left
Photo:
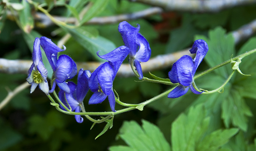
[[[62,83],[69,79],[73,70],[72,59],[67,55],[60,55],[56,64],[56,70],[54,71],[54,77],[56,82]]]

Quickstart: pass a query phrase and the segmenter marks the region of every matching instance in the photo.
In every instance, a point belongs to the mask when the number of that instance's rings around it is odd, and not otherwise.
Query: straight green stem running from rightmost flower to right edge
[[[228,63],[231,63],[231,60],[242,59],[242,58],[244,58],[244,57],[246,57],[246,56],[248,56],[248,55],[250,55],[250,54],[253,54],[254,52],[256,52],[256,49],[253,49],[253,50],[251,50],[251,51],[248,51],[248,52],[245,52],[245,53],[243,53],[243,54],[237,55],[236,57],[234,57],[234,58],[232,58],[232,59],[226,60],[225,62],[220,63],[220,64],[217,65],[217,66],[214,66],[214,67],[212,67],[212,68],[210,68],[210,69],[208,69],[208,70],[206,70],[206,71],[201,72],[200,74],[195,75],[195,76],[194,76],[194,80],[197,79],[197,78],[199,78],[199,77],[201,77],[201,76],[203,76],[203,75],[205,75],[205,74],[208,74],[208,73],[211,72],[211,71],[214,71],[214,70],[217,69],[217,68],[220,68],[220,67],[222,67],[222,66],[227,65]]]

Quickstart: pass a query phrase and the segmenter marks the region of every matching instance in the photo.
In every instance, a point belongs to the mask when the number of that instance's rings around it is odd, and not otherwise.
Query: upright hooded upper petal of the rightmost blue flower
[[[194,70],[193,70],[193,75],[195,74],[195,71],[197,70],[199,64],[202,62],[203,58],[205,57],[206,53],[208,52],[208,45],[207,43],[202,40],[198,39],[194,42],[192,48],[189,50],[191,54],[195,54],[194,58]]]

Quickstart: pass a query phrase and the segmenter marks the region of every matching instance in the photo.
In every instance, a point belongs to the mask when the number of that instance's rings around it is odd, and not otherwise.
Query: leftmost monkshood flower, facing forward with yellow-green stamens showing
[[[40,49],[40,39],[36,38],[34,41],[34,48],[32,52],[33,63],[28,69],[28,83],[31,84],[30,93],[32,93],[37,85],[45,93],[49,94],[49,87],[47,82],[47,69],[42,62],[42,52]]]

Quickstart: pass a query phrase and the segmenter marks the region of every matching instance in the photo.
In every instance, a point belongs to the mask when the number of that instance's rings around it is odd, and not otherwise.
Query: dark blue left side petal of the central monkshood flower
[[[98,89],[99,89],[98,71],[100,70],[102,65],[103,64],[98,66],[98,68],[95,69],[94,72],[92,72],[91,77],[89,78],[88,85],[92,92],[98,92]]]

